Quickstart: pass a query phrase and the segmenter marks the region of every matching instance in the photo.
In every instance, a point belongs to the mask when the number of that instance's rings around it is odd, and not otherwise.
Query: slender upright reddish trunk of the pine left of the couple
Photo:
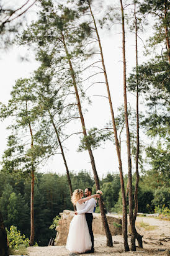
[[[32,127],[29,123],[30,135],[31,135],[31,149],[33,149],[34,145],[34,137],[32,134]],[[34,227],[34,160],[32,157],[32,170],[31,170],[31,192],[30,192],[30,242],[29,245],[34,245],[34,235],[35,235],[35,227]]]

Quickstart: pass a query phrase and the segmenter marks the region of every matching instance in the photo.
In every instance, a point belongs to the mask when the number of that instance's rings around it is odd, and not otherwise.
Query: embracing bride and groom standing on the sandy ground
[[[83,198],[83,196],[86,198]],[[90,254],[94,252],[94,236],[92,232],[92,213],[96,206],[94,198],[100,198],[100,194],[93,194],[91,188],[86,190],[74,190],[71,197],[72,203],[76,206],[75,216],[69,224],[69,233],[66,242],[66,249],[71,253]]]

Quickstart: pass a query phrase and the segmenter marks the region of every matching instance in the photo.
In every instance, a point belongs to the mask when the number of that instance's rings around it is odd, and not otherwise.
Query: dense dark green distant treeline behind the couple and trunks
[[[79,171],[71,172],[73,190],[91,187],[96,191],[91,173]],[[105,209],[107,212],[122,211],[122,195],[120,192],[120,178],[118,173],[107,173],[100,180]],[[150,183],[150,186],[148,184]],[[127,184],[127,176],[125,176]],[[0,209],[4,217],[4,224],[9,229],[12,225],[30,236],[30,181],[0,172]],[[156,177],[143,175],[138,190],[138,212],[153,213],[157,206],[169,206],[169,188],[161,186]],[[70,201],[69,187],[66,175],[53,173],[36,173],[35,175],[35,241],[38,245],[48,245],[50,237],[56,236],[56,231],[49,229],[53,218],[64,209],[73,210]],[[96,210],[99,212],[99,208]]]

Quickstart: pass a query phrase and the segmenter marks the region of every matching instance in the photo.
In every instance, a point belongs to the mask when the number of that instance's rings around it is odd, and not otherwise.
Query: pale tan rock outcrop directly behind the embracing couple
[[[56,227],[56,239],[55,245],[66,245],[66,239],[69,231],[69,223],[74,217],[74,211],[65,210],[63,213],[60,213],[61,219],[58,222]],[[121,235],[122,234],[122,219],[117,217],[112,217],[107,215],[107,222],[109,224],[109,229],[112,235]],[[101,214],[94,213],[92,222],[92,230],[94,234],[105,235],[104,226],[102,224]]]

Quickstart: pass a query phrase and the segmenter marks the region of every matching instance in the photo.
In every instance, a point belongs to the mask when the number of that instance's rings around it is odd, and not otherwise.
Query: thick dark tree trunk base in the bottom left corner
[[[8,256],[8,248],[7,248],[7,234],[6,228],[4,226],[4,222],[2,219],[2,214],[0,211],[0,255]]]

